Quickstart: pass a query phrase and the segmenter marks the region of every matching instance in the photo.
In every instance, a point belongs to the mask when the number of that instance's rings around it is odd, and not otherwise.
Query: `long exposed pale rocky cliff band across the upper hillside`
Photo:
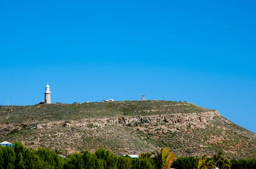
[[[204,127],[207,121],[212,121],[214,116],[221,116],[217,110],[208,111],[204,113],[175,113],[175,114],[161,114],[161,115],[146,115],[138,117],[114,117],[114,118],[90,118],[90,121],[72,121],[65,122],[64,127],[88,127],[90,124],[104,127],[106,124],[115,125],[134,125],[134,124],[177,124],[187,125],[193,124],[192,127]],[[87,119],[88,120],[88,119]]]

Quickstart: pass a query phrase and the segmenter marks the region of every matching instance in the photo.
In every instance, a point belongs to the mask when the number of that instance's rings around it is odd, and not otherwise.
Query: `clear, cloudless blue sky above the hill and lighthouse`
[[[188,101],[256,132],[253,0],[0,1],[0,105]]]

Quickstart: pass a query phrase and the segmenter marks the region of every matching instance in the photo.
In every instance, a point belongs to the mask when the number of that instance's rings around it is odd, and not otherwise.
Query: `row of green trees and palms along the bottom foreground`
[[[62,155],[62,156],[61,156]],[[65,155],[65,156],[64,156]],[[65,158],[64,158],[65,157]],[[141,153],[139,158],[119,156],[103,148],[68,155],[58,149],[29,149],[20,142],[13,147],[0,146],[0,169],[256,169],[256,159],[224,158],[223,152],[212,157],[179,157],[164,147],[156,155]]]

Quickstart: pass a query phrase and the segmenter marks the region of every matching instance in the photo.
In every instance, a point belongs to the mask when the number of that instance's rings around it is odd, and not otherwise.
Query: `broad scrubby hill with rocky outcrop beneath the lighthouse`
[[[256,158],[255,133],[217,110],[175,101],[0,106],[0,141],[69,152],[105,147],[119,155],[163,146],[180,156],[222,149],[226,158]]]

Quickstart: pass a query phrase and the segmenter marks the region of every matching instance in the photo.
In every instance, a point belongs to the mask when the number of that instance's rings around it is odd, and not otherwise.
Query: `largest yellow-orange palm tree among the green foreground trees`
[[[154,156],[153,160],[157,169],[169,169],[176,157],[174,153],[169,152],[167,147],[164,147],[160,152],[157,151],[157,155]]]

